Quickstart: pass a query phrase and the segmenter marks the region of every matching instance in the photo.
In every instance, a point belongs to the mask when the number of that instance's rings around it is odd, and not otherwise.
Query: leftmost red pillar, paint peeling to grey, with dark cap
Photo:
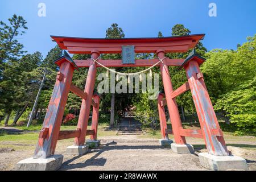
[[[72,81],[74,64],[65,57],[57,60],[60,71],[57,74],[52,97],[48,105],[42,130],[39,134],[34,158],[47,158],[55,152],[65,105],[67,103],[69,88]]]

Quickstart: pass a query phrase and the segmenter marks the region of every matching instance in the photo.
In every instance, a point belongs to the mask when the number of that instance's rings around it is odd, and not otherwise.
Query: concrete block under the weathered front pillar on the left
[[[46,159],[28,158],[16,164],[16,171],[56,171],[63,162],[63,155],[52,155]]]

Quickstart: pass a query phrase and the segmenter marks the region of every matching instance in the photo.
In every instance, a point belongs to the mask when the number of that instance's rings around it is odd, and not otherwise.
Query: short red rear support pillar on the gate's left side
[[[100,97],[95,94],[93,96],[93,101],[96,102],[96,106],[93,106],[93,115],[92,115],[92,127],[91,130],[94,130],[94,134],[90,135],[91,140],[97,140],[97,131],[98,131],[98,109],[100,108]]]

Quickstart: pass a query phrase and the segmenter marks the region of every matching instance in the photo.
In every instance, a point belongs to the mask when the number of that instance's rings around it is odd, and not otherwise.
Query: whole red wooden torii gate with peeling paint
[[[135,53],[156,53],[159,59],[163,59],[157,66],[160,67],[165,94],[159,94],[158,109],[162,138],[168,139],[168,134],[174,134],[175,144],[172,143],[172,150],[180,154],[193,152],[193,147],[187,144],[185,137],[196,137],[204,138],[208,154],[229,156],[222,131],[210,102],[203,74],[200,72],[199,65],[204,62],[203,57],[192,51],[185,60],[164,58],[164,53],[167,52],[187,52],[189,49],[193,49],[199,40],[204,38],[204,34],[166,38],[88,39],[63,36],[51,36],[51,38],[61,49],[66,49],[69,53],[90,53],[92,59],[72,60],[65,52],[64,56],[55,61],[60,70],[57,73],[52,98],[49,102],[42,131],[39,134],[33,159],[48,159],[55,156],[57,140],[75,138],[73,146],[68,147],[67,151],[69,154],[76,155],[85,154],[87,149],[84,146],[86,135],[90,135],[92,140],[97,140],[100,96],[94,94],[93,89],[96,69],[101,65],[93,60],[98,59],[101,53],[121,53],[122,46],[126,45],[133,45]],[[122,60],[98,59],[98,63],[105,67],[151,67],[158,63],[159,59],[135,60],[135,64],[122,64]],[[172,88],[171,77],[168,72],[169,66],[179,66],[184,68],[187,73],[188,82],[176,90]],[[80,67],[89,68],[84,92],[72,84],[73,71]],[[181,124],[175,98],[189,89],[195,102],[201,130],[183,129]],[[75,131],[60,131],[64,108],[70,91],[82,98],[79,122]],[[92,129],[87,130],[91,105],[93,106]],[[167,130],[165,105],[167,105],[170,114],[172,131]],[[55,161],[55,168],[51,169],[59,168],[62,159],[63,156],[57,162]],[[20,162],[20,169],[24,167],[22,164]]]

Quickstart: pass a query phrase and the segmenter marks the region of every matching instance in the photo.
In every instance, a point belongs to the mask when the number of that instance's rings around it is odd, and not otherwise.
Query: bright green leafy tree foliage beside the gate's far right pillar
[[[256,35],[237,51],[214,49],[201,67],[216,110],[224,110],[237,133],[256,132]]]

